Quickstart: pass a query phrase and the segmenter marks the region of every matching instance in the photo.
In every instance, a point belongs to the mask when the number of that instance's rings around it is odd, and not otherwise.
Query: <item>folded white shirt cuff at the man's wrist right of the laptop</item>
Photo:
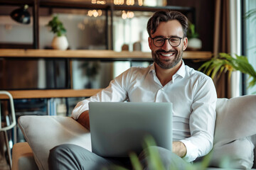
[[[186,162],[193,162],[198,157],[198,148],[189,140],[180,140],[186,146],[186,156],[182,159]]]

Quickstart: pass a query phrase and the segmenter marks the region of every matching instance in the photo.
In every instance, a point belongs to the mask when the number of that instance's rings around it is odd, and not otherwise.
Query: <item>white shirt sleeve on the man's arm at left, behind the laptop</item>
[[[78,102],[75,108],[72,111],[72,118],[77,120],[80,114],[84,111],[89,110],[88,103],[90,101],[112,101],[112,102],[119,102],[119,101],[126,101],[127,100],[127,80],[129,74],[129,69],[126,72],[123,72],[118,77],[110,81],[109,86],[106,89],[102,89],[99,93]]]

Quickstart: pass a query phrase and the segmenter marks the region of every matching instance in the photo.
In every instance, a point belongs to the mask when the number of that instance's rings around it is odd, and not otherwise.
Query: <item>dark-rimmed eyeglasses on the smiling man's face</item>
[[[180,37],[171,37],[171,38],[161,38],[161,37],[156,37],[156,38],[151,38],[153,40],[153,43],[156,47],[162,47],[166,40],[170,43],[172,47],[178,47],[178,45],[181,44],[181,39]]]

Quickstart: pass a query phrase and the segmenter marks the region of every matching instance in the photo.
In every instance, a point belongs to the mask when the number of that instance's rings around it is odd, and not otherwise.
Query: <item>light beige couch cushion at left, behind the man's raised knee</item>
[[[74,144],[91,151],[90,133],[69,117],[24,115],[18,125],[30,145],[39,169],[48,169],[49,150],[61,144]]]

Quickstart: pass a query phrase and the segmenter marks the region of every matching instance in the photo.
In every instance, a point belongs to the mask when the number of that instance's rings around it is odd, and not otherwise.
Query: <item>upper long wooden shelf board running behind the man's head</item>
[[[151,60],[151,52],[114,52],[112,50],[23,50],[1,49],[0,57],[16,58],[69,58],[98,60]],[[185,51],[183,59],[209,60],[211,52]]]

